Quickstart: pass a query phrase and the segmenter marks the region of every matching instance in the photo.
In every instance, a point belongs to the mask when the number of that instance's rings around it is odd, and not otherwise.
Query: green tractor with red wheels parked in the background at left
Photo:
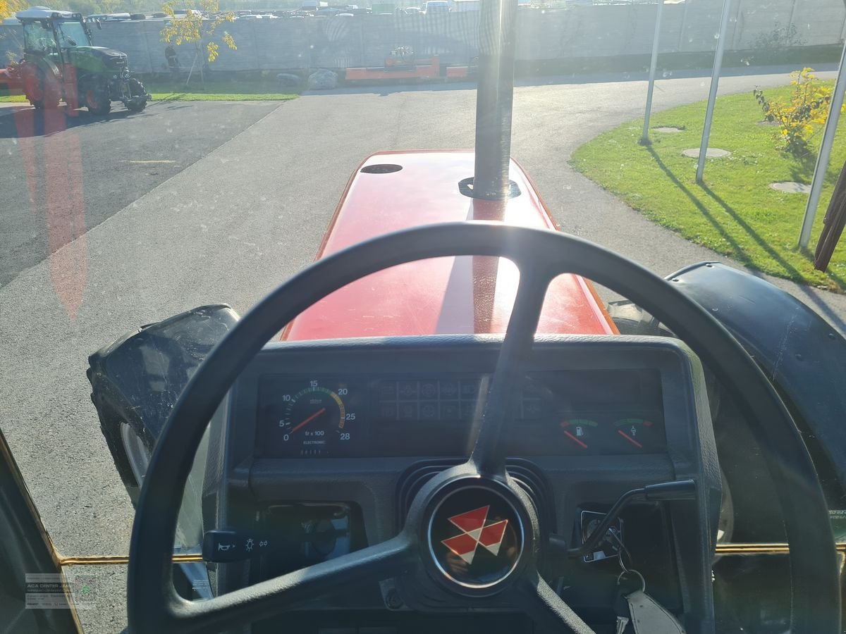
[[[19,75],[34,107],[57,108],[64,100],[71,110],[85,106],[103,115],[122,101],[133,112],[144,110],[151,96],[130,77],[126,53],[92,46],[81,14],[37,7],[15,17],[24,25]]]

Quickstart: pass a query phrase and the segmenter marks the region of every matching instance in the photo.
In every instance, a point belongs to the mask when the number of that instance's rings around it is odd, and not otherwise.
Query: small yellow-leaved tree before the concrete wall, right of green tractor
[[[3,2],[3,0],[0,0]],[[165,3],[162,7],[164,14],[170,18],[168,24],[162,29],[162,41],[175,43],[176,46],[183,42],[193,42],[195,44],[195,59],[202,50],[203,41],[206,40],[206,58],[208,63],[212,63],[217,59],[217,52],[219,46],[217,42],[211,41],[211,36],[214,35],[217,27],[224,22],[233,22],[235,14],[233,12],[222,12],[218,0],[184,0],[183,8],[186,13],[184,15],[176,15],[176,3]],[[204,16],[209,16],[208,18]],[[226,46],[235,51],[238,46],[235,46],[235,41],[227,32],[223,32],[222,41]],[[194,64],[191,64],[194,68]],[[202,68],[201,68],[202,76]],[[188,75],[190,79],[190,73]],[[185,81],[188,84],[188,81]]]

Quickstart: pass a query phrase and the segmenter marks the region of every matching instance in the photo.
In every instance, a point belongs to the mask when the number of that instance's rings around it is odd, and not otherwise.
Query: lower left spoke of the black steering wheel
[[[399,577],[414,566],[412,541],[400,533],[382,544],[206,601],[189,601],[173,591],[168,601],[169,628],[163,631],[217,631],[276,615],[344,587]]]

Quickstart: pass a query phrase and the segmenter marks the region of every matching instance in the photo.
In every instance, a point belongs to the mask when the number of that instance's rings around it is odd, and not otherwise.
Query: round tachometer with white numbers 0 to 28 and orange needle
[[[277,439],[288,456],[329,456],[354,435],[355,413],[347,411],[344,399],[349,388],[335,390],[311,381],[299,391],[283,393],[282,417],[277,421]],[[343,448],[340,453],[344,453]]]

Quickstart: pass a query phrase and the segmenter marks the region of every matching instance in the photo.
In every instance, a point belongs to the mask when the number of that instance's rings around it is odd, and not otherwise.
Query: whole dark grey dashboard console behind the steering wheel
[[[470,456],[502,342],[425,336],[267,344],[211,420],[202,512],[206,530],[270,536],[276,548],[217,564],[213,592],[396,535],[428,479]],[[706,614],[721,482],[695,355],[655,336],[537,336],[514,391],[502,439],[507,468],[535,503],[541,531],[580,544],[591,518],[630,489],[695,480],[697,500],[635,504],[621,515],[619,535],[663,606],[694,619]],[[582,580],[563,583],[562,598],[613,624],[607,604],[620,568],[609,552],[550,574]],[[389,583],[350,588],[316,604],[328,612],[304,619],[393,610],[390,590]],[[425,600],[437,607],[439,599]],[[370,624],[362,615],[360,625]]]

